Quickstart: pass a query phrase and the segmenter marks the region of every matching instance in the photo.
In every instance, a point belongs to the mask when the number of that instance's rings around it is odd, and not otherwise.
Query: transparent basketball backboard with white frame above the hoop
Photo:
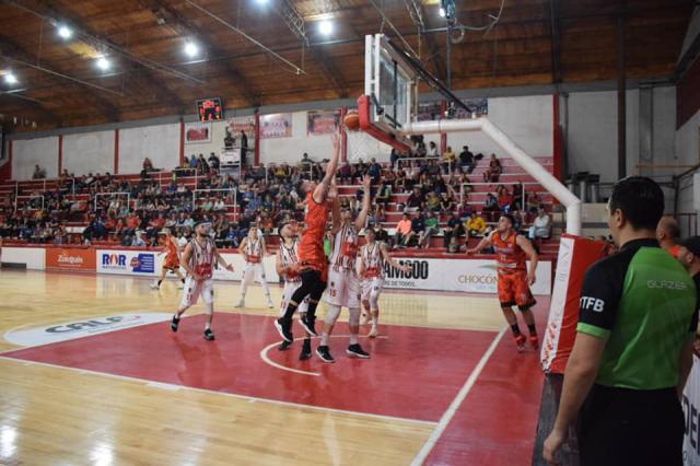
[[[384,34],[365,37],[364,93],[372,102],[371,119],[392,133],[415,119],[417,77]]]

